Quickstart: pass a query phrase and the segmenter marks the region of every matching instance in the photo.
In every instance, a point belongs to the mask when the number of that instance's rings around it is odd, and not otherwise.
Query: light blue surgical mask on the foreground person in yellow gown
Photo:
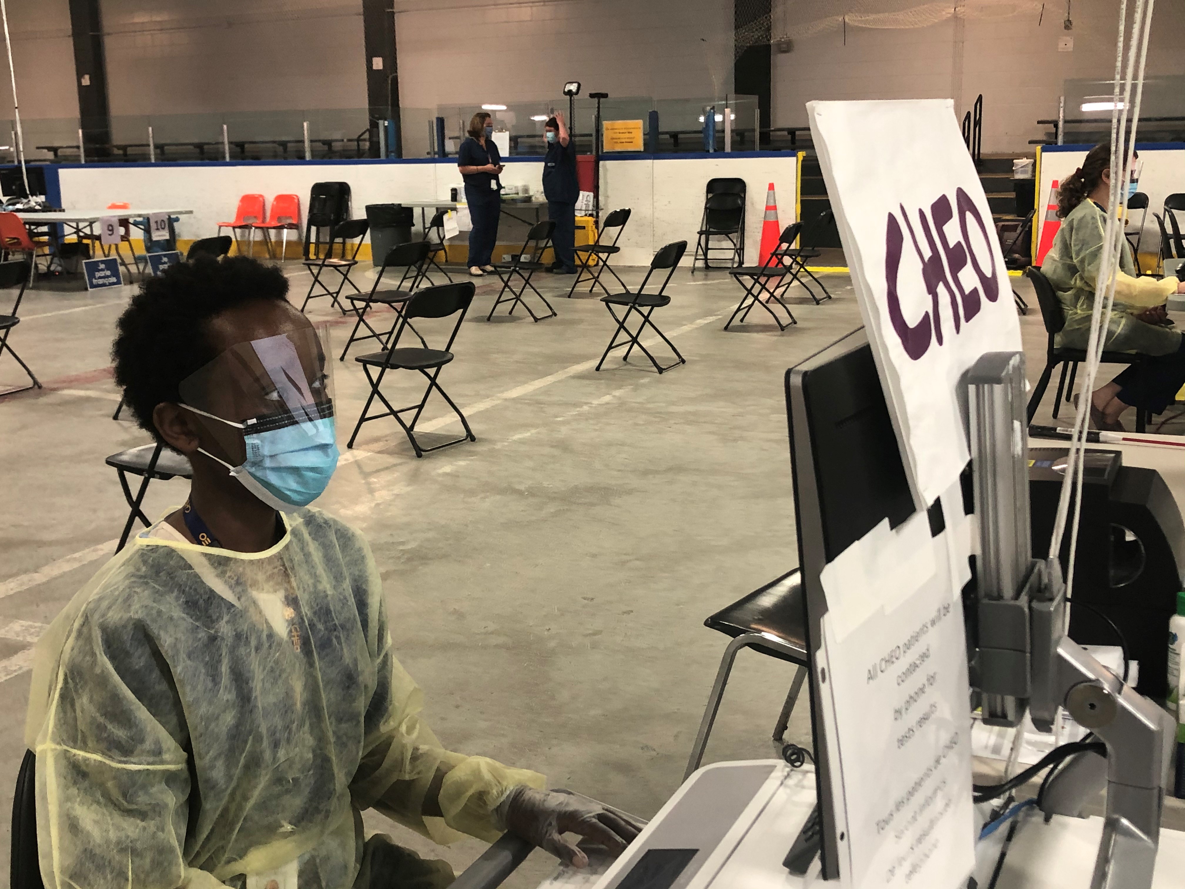
[[[207,450],[198,453],[225,466],[243,487],[274,510],[293,512],[308,506],[325,492],[338,468],[340,453],[332,416],[252,433],[250,421],[235,423],[188,404],[181,407],[244,430],[246,459],[241,466],[231,466]]]

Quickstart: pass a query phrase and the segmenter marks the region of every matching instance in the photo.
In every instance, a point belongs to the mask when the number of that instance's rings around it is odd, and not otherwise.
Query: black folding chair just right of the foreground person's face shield
[[[450,444],[460,444],[462,441],[476,441],[473,435],[473,430],[469,428],[469,421],[465,418],[461,409],[453,403],[453,399],[448,397],[436,378],[440,377],[441,369],[453,360],[453,340],[456,339],[456,334],[461,330],[461,322],[465,321],[465,313],[469,309],[469,303],[473,302],[474,286],[472,281],[457,281],[451,284],[438,284],[436,287],[425,287],[415,294],[403,307],[402,318],[399,319],[399,326],[392,339],[392,347],[385,348],[382,352],[373,352],[371,354],[359,356],[354,360],[363,365],[363,371],[366,373],[366,379],[371,385],[370,397],[366,398],[366,404],[363,407],[363,412],[358,417],[358,424],[354,427],[353,434],[350,436],[350,442],[346,444],[347,448],[354,446],[354,439],[358,437],[358,430],[363,428],[363,423],[367,423],[371,420],[382,420],[383,417],[395,417],[396,422],[403,427],[403,431],[408,435],[408,441],[411,442],[411,447],[416,452],[416,456],[423,456],[431,450],[440,450],[441,448],[447,448]],[[448,338],[448,343],[444,348],[398,348],[399,337],[403,335],[405,327],[410,326],[410,321],[414,318],[448,318],[450,315],[456,315],[456,324],[453,327],[453,333]],[[378,367],[378,376],[374,376],[373,370]],[[409,405],[406,408],[393,408],[391,402],[386,399],[386,396],[379,391],[379,386],[383,385],[383,377],[386,376],[389,370],[415,370],[419,371],[424,379],[428,380],[428,388],[424,389],[424,397],[419,399],[417,404]],[[429,373],[431,371],[431,373]],[[453,412],[457,415],[461,420],[461,426],[465,427],[465,435],[451,441],[447,441],[443,444],[434,444],[430,448],[421,447],[419,442],[416,440],[416,423],[419,422],[419,416],[424,412],[424,405],[428,403],[428,397],[431,395],[433,390],[441,394],[441,397],[448,402],[448,405],[453,409]],[[383,407],[386,410],[382,414],[376,414],[369,416],[371,403],[378,398],[383,402]],[[405,423],[401,414],[406,414],[408,411],[415,411],[411,417],[410,423]]]

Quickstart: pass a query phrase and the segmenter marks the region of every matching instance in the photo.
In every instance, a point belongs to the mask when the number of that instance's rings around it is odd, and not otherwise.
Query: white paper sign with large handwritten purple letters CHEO
[[[917,506],[971,453],[955,391],[985,352],[1020,351],[992,210],[950,100],[809,102],[860,314]]]

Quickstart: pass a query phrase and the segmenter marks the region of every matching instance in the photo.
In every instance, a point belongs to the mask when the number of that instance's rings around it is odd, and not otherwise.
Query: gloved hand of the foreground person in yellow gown
[[[619,814],[581,797],[537,791],[525,785],[511,788],[494,817],[502,830],[551,852],[565,864],[587,866],[588,856],[564,839],[571,831],[620,855],[641,830]]]

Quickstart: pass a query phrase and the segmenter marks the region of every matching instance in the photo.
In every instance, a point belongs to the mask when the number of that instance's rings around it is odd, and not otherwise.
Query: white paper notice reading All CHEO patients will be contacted
[[[944,516],[961,511],[957,488],[942,500]],[[832,789],[847,824],[840,872],[853,889],[957,889],[975,863],[967,648],[952,589],[963,573],[949,564],[959,549],[946,539],[952,523],[920,542],[918,519],[927,523],[925,513],[897,531],[873,529],[821,578],[839,754]],[[873,545],[882,576],[854,589]],[[872,608],[870,589],[882,597]],[[853,596],[863,614],[856,626]]]

